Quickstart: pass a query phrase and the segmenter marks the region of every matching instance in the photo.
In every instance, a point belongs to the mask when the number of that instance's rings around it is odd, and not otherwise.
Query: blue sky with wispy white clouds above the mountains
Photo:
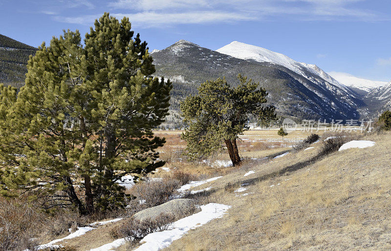
[[[63,29],[84,35],[105,11],[128,16],[151,49],[239,41],[325,71],[391,79],[391,0],[0,0],[0,34],[38,46]]]

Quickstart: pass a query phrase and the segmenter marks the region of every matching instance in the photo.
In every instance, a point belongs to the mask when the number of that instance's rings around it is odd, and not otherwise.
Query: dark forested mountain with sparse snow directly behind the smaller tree
[[[357,108],[365,105],[352,92],[321,79],[309,71],[302,75],[278,64],[260,63],[234,58],[200,47],[192,42],[178,41],[152,54],[156,76],[174,82],[172,109],[179,109],[180,100],[196,93],[196,87],[209,79],[225,77],[237,83],[241,73],[261,82],[269,92],[269,103],[276,105],[280,115],[299,119],[357,119]]]

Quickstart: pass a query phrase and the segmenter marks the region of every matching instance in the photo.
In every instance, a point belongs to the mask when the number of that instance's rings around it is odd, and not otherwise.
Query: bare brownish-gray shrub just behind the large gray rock
[[[144,208],[150,208],[166,203],[178,192],[180,182],[172,179],[138,183],[129,192]]]

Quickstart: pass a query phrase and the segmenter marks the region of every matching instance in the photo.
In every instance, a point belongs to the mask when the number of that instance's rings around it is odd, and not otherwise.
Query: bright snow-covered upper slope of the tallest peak
[[[346,90],[346,86],[339,83],[337,80],[333,79],[330,75],[324,72],[321,68],[315,64],[307,64],[297,62],[288,56],[285,56],[281,53],[274,52],[262,47],[258,47],[251,44],[246,44],[238,41],[231,42],[230,44],[225,45],[217,50],[217,52],[230,55],[235,58],[244,59],[244,60],[255,60],[258,62],[269,62],[280,64],[302,76],[306,79],[310,77],[307,76],[307,71],[312,74],[315,74],[322,79],[326,80],[328,83],[336,85],[342,89]]]

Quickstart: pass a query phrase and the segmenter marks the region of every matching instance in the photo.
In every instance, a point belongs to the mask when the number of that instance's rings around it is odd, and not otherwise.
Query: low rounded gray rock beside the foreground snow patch
[[[133,218],[139,221],[146,219],[154,220],[162,214],[173,215],[175,218],[182,218],[195,211],[194,200],[175,199],[162,205],[144,209],[133,215]]]

